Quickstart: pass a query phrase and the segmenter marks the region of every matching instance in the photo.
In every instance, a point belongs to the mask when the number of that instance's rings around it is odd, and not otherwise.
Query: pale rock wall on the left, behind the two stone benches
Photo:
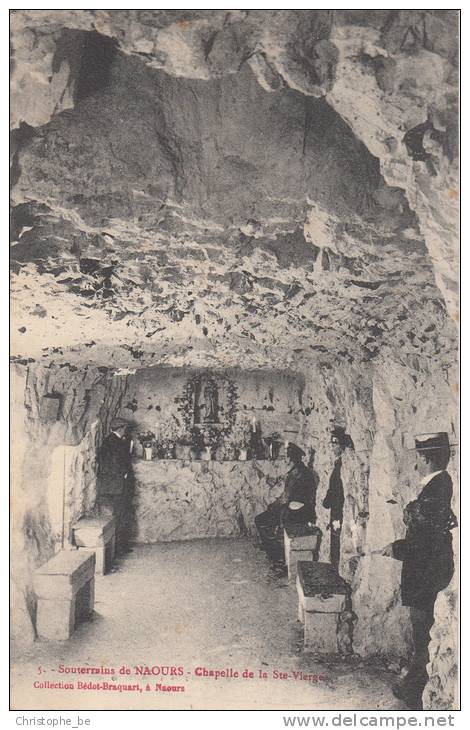
[[[12,372],[12,641],[34,638],[34,570],[71,544],[71,526],[95,504],[97,447],[126,378],[74,366]],[[51,395],[56,397],[50,398]],[[59,411],[50,415],[49,400]]]

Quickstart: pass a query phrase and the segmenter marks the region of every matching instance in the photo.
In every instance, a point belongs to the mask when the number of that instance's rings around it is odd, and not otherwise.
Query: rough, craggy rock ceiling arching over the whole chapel
[[[450,363],[455,22],[13,12],[14,358]]]

